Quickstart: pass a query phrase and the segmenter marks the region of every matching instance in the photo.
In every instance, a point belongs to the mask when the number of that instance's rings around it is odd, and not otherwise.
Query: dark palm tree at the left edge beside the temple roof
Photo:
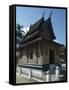
[[[25,32],[22,30],[23,26],[16,24],[16,47],[20,46],[21,40],[24,38]]]

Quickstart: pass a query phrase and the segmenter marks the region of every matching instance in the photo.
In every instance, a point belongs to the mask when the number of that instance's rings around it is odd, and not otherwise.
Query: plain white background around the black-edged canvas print
[[[47,6],[69,6],[69,0],[0,0],[0,90],[68,90],[69,83],[24,85],[8,84],[9,73],[9,5],[35,4]],[[69,11],[69,9],[68,9]],[[68,12],[69,14],[69,12]],[[69,20],[68,20],[69,21]]]

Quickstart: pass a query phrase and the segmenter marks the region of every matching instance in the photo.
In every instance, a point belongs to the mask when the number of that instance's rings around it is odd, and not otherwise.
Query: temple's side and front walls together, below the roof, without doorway
[[[33,45],[31,48],[28,47],[27,50],[24,49],[22,51],[22,58],[19,60],[19,64],[50,64],[50,50],[54,50],[55,53],[54,64],[60,63],[59,47],[54,44],[50,44],[46,41],[43,41],[36,46]],[[32,56],[30,56],[31,54]]]

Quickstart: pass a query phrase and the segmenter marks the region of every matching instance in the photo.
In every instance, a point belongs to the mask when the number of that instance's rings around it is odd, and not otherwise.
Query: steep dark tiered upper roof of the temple
[[[54,40],[56,38],[52,27],[51,16],[48,17],[47,20],[44,20],[44,17],[42,16],[36,23],[31,25],[29,32],[21,41],[21,44],[35,40],[36,38],[39,38],[39,37],[45,38],[46,35],[42,35],[44,31],[45,33],[49,32],[49,36],[51,37],[51,40]]]

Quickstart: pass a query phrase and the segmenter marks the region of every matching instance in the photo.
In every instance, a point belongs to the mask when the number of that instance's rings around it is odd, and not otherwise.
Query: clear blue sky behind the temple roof
[[[23,25],[24,31],[29,30],[30,25],[37,22],[44,14],[44,19],[51,15],[56,42],[66,45],[66,10],[56,8],[16,7],[16,23]]]

